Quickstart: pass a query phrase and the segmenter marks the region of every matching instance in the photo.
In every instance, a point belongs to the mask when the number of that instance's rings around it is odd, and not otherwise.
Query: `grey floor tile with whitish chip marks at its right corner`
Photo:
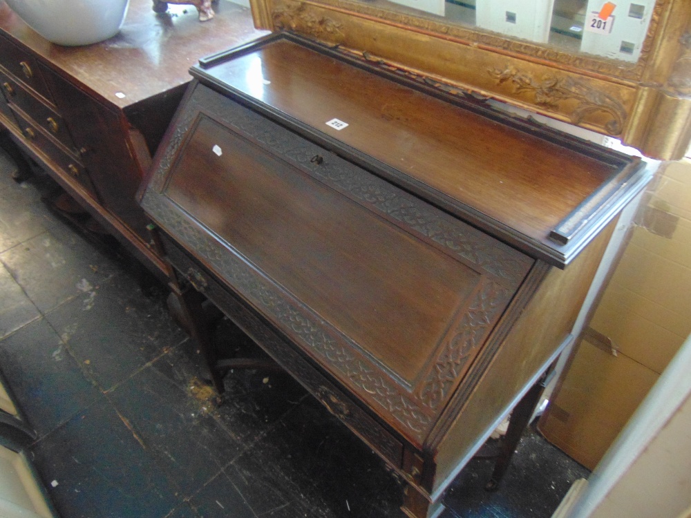
[[[120,273],[117,264],[65,224],[58,224],[2,254],[12,277],[44,314]]]

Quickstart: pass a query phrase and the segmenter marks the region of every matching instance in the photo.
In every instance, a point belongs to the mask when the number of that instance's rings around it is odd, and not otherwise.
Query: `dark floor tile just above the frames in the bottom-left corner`
[[[68,421],[99,395],[42,318],[0,340],[0,367],[39,435]]]

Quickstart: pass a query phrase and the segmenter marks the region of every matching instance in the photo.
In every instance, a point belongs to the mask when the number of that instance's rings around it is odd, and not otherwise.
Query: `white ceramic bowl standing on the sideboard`
[[[129,0],[5,0],[39,35],[59,45],[89,45],[117,34]]]

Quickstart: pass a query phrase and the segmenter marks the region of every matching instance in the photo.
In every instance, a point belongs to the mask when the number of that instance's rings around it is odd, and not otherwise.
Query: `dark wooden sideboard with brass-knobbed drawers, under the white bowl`
[[[249,10],[220,0],[199,23],[191,6],[155,13],[131,0],[120,33],[62,47],[39,36],[0,1],[0,126],[154,274],[167,269],[151,247],[135,194],[202,55],[241,44],[255,30]]]

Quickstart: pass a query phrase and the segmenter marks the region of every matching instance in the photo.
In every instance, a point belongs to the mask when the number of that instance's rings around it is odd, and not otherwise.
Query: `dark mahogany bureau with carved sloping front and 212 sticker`
[[[141,193],[180,283],[438,515],[568,342],[646,171],[288,33],[191,73]]]

